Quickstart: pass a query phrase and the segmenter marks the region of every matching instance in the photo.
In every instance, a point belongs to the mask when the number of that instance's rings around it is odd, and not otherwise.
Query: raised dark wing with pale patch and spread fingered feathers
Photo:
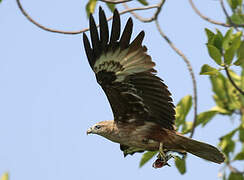
[[[90,42],[83,41],[91,68],[111,105],[114,120],[121,122],[151,121],[174,129],[175,110],[170,92],[155,76],[151,57],[142,46],[144,31],[130,43],[133,22],[126,23],[120,37],[120,16],[114,11],[111,35],[104,11],[99,9],[100,36],[90,15]]]

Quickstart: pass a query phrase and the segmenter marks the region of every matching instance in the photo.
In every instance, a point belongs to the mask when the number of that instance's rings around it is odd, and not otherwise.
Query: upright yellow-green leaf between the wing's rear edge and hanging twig
[[[176,127],[185,122],[186,116],[189,113],[192,106],[192,97],[187,95],[183,97],[176,106]]]

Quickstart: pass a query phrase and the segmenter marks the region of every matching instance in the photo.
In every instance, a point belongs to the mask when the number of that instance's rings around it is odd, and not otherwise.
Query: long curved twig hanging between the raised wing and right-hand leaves
[[[197,82],[196,82],[196,78],[191,66],[190,61],[187,59],[187,57],[172,43],[172,41],[164,34],[164,32],[162,31],[162,28],[160,27],[158,20],[155,20],[156,23],[156,27],[160,33],[160,35],[166,40],[166,42],[170,45],[170,47],[179,55],[182,57],[182,59],[184,60],[184,62],[187,65],[187,69],[190,72],[191,75],[191,79],[192,79],[192,84],[193,84],[193,107],[194,107],[194,119],[193,119],[193,125],[192,125],[192,130],[191,130],[191,134],[190,137],[192,138],[195,128],[196,128],[196,123],[197,123]]]

